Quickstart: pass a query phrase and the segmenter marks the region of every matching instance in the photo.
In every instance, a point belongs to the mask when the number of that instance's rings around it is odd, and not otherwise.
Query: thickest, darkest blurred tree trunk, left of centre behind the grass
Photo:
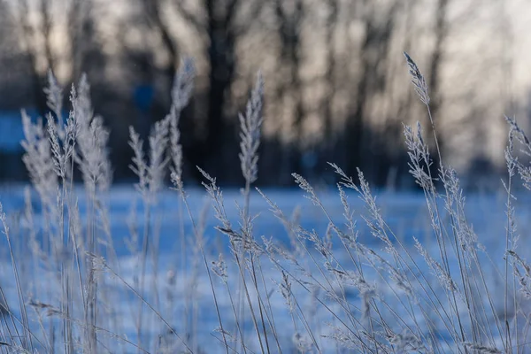
[[[206,15],[204,29],[208,38],[207,58],[210,64],[208,117],[204,140],[199,141],[199,145],[191,151],[196,165],[210,166],[219,173],[220,181],[227,181],[229,175],[234,177],[237,172],[237,169],[226,168],[228,161],[233,159],[230,151],[238,146],[238,135],[235,134],[238,120],[235,117],[227,120],[226,117],[232,107],[230,88],[235,80],[237,65],[235,46],[238,37],[248,33],[261,12],[263,2],[203,0],[202,4]],[[238,17],[245,6],[250,7],[247,16]],[[227,142],[227,137],[233,139]],[[200,178],[199,175],[197,177]]]

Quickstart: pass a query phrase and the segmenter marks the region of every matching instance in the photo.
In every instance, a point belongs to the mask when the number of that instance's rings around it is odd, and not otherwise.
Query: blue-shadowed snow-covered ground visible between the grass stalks
[[[286,215],[290,216],[295,211],[298,221],[302,227],[307,230],[315,230],[321,237],[326,234],[328,221],[322,211],[319,210],[312,202],[304,198],[304,193],[300,189],[265,189],[264,192],[281,208]],[[86,215],[85,201],[82,194],[82,189],[77,188],[76,193],[79,197],[79,205],[81,208],[81,216]],[[210,205],[210,200],[206,197],[203,189],[189,189],[189,205],[197,222],[205,215],[204,221],[204,240],[205,250],[209,257],[209,262],[218,258],[219,253],[225,255],[229,266],[228,283],[230,289],[234,291],[232,296],[237,298],[237,271],[232,264],[228,250],[227,236],[221,235],[214,229],[219,225],[219,222],[214,218],[213,212],[206,209],[205,205]],[[242,205],[242,197],[238,190],[224,189],[223,196],[227,207],[228,218],[237,227],[239,224],[239,214],[235,202]],[[342,204],[335,189],[325,189],[319,191],[319,196],[322,203],[327,209],[329,215],[337,225],[342,226],[344,218],[342,217]],[[135,222],[137,232],[142,235],[142,227],[145,222],[143,218],[142,203],[135,189],[132,187],[117,186],[106,196],[106,202],[109,205],[112,242],[114,250],[118,255],[117,262],[109,261],[109,265],[114,271],[119,273],[127,283],[134,285],[137,283],[140,272],[140,260],[138,255],[131,254],[127,249],[126,240],[130,238],[130,229],[127,226],[128,220]],[[479,241],[487,247],[489,255],[494,263],[502,269],[504,256],[504,240],[505,240],[505,224],[506,218],[504,214],[504,203],[506,196],[499,195],[471,195],[466,200],[467,216],[473,229],[479,236]],[[19,237],[15,240],[17,247],[25,242],[23,233],[16,227],[18,216],[24,209],[24,191],[20,186],[4,186],[0,188],[0,201],[4,205],[4,212],[10,215],[10,222],[12,223],[12,237]],[[519,221],[519,231],[521,234],[520,244],[522,250],[528,243],[527,230],[531,229],[531,208],[529,205],[529,197],[526,194],[519,196],[516,202],[517,219]],[[360,217],[365,215],[365,207],[363,202],[354,194],[349,195],[349,202],[352,210],[355,212],[355,219],[358,220],[359,242],[363,242],[367,247],[374,250],[381,250],[382,245],[373,235],[370,234],[364,220]],[[412,254],[417,254],[413,249],[413,239],[415,236],[428,250],[435,252],[436,242],[433,239],[433,231],[430,225],[430,219],[427,217],[426,201],[424,195],[421,193],[377,193],[377,202],[381,207],[381,212],[384,219],[388,222],[389,227],[393,229],[395,234],[404,242],[407,247],[411,247]],[[33,206],[35,208],[35,219],[39,222],[39,204],[35,198],[33,199]],[[158,205],[151,214],[153,235],[159,235],[158,246],[156,254],[157,258],[150,258],[147,263],[146,273],[146,289],[148,291],[142,293],[146,299],[152,304],[163,318],[170,323],[176,332],[182,337],[187,337],[187,329],[189,335],[190,347],[203,352],[221,352],[222,347],[219,345],[221,338],[219,332],[214,332],[214,329],[219,327],[219,321],[215,312],[215,307],[212,301],[212,289],[206,272],[204,269],[203,260],[196,248],[192,226],[186,212],[182,212],[183,218],[180,215],[180,203],[176,192],[167,191],[161,193],[158,197]],[[133,213],[134,212],[134,213]],[[250,199],[250,213],[257,215],[254,220],[253,232],[257,239],[261,236],[266,238],[273,238],[273,242],[284,244],[289,247],[289,236],[281,222],[273,216],[269,211],[266,201],[258,195],[253,193]],[[82,219],[82,217],[81,217]],[[182,223],[181,223],[182,222]],[[182,249],[181,227],[186,235],[186,248]],[[157,243],[156,241],[153,241]],[[154,244],[155,244],[154,243]],[[8,301],[12,303],[12,307],[16,306],[16,288],[12,276],[12,266],[9,261],[9,253],[4,247],[4,238],[0,241],[2,248],[0,255],[3,259],[0,264],[0,272],[2,274],[2,287],[8,297]],[[153,245],[153,244],[152,244]],[[20,248],[23,250],[24,248]],[[340,242],[334,242],[335,257],[340,263],[344,261],[344,265],[349,265],[347,253],[342,249]],[[317,252],[316,252],[317,253]],[[155,253],[151,253],[155,254]],[[526,253],[523,253],[524,255]],[[435,253],[436,255],[436,253]],[[316,255],[319,256],[319,255]],[[19,254],[19,267],[22,270],[22,280],[28,290],[27,301],[31,297],[33,300],[41,301],[42,303],[58,305],[59,288],[57,269],[49,269],[47,271],[40,271],[42,273],[35,274],[33,268],[34,262],[31,256],[26,259],[23,254]],[[155,260],[153,260],[155,259]],[[308,259],[309,261],[309,259]],[[319,260],[320,262],[320,260]],[[321,262],[322,263],[322,262]],[[423,260],[419,258],[419,265],[426,267]],[[262,273],[264,279],[271,290],[269,300],[273,310],[274,320],[277,329],[281,328],[278,337],[281,342],[281,347],[286,348],[286,352],[292,352],[296,346],[293,338],[296,335],[296,329],[292,324],[291,316],[288,312],[284,298],[275,288],[271,280],[281,281],[280,272],[275,269],[267,259],[263,259]],[[316,271],[314,265],[308,265],[310,269]],[[456,266],[456,265],[453,265]],[[423,268],[424,269],[424,268]],[[493,268],[494,269],[494,268]],[[426,273],[429,270],[425,268]],[[378,289],[385,288],[385,284],[379,279],[376,273],[368,273],[368,277],[373,276],[374,285]],[[495,281],[496,277],[492,277]],[[121,281],[117,281],[115,277],[109,272],[101,274],[100,281],[106,287],[100,286],[104,289],[102,293],[100,321],[102,327],[107,327],[112,330],[115,335],[121,335],[132,342],[137,342],[135,321],[138,317],[139,299],[137,296],[127,290],[126,286]],[[216,295],[218,296],[219,310],[221,317],[224,319],[224,327],[228,332],[235,333],[235,321],[233,310],[227,290],[219,278],[214,278]],[[301,310],[309,316],[309,322],[312,327],[319,328],[318,335],[329,335],[330,327],[328,323],[334,324],[334,319],[319,304],[315,303],[315,298],[312,294],[293,284],[293,292],[299,298],[301,303]],[[500,288],[501,291],[501,288]],[[358,304],[361,299],[358,298],[358,293],[353,291],[350,293],[349,301],[352,304]],[[384,295],[385,296],[385,295]],[[500,293],[501,298],[503,294]],[[252,295],[251,295],[252,297]],[[333,310],[341,312],[337,304],[331,302],[330,306]],[[399,309],[399,306],[397,307]],[[38,328],[35,322],[35,312],[31,311],[30,315],[34,319],[33,325]],[[142,315],[142,348],[150,351],[162,350],[165,343],[177,342],[173,335],[168,334],[167,328],[160,319],[157,318],[147,307],[143,309]],[[404,312],[404,320],[407,316]],[[48,319],[46,319],[48,320]],[[44,323],[46,324],[46,320]],[[420,322],[420,323],[419,323]],[[421,321],[418,321],[422,325]],[[256,334],[254,333],[253,325],[250,316],[245,317],[243,323],[246,338],[249,338],[250,348],[258,350],[258,342],[256,342]],[[284,330],[285,328],[285,330]],[[304,334],[304,327],[300,326],[297,329]],[[39,333],[39,332],[37,332]],[[133,352],[136,351],[134,346],[127,344],[123,340],[112,338],[104,331],[99,333],[100,339],[104,345],[111,346],[111,351]],[[328,341],[323,337],[318,337],[317,341],[320,344],[320,350],[324,352],[335,352],[336,347],[334,342]],[[117,344],[119,343],[119,344]],[[175,352],[169,349],[168,352]],[[273,350],[276,352],[276,350]],[[293,351],[295,352],[295,351]]]

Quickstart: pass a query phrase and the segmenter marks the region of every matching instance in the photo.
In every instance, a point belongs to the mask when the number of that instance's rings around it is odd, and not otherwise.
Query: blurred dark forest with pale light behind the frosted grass
[[[261,70],[258,183],[289,185],[294,172],[330,183],[333,161],[350,175],[360,167],[374,184],[411,188],[402,124],[420,120],[429,129],[406,50],[427,78],[443,154],[469,185],[488,184],[484,176],[504,168],[503,114],[526,119],[528,111],[529,77],[515,74],[514,49],[529,5],[513,3],[0,0],[0,181],[27,178],[19,110],[47,112],[49,68],[65,88],[65,107],[70,86],[87,73],[96,113],[112,129],[114,179],[131,180],[128,127],[145,137],[164,118],[187,56],[197,72],[181,119],[188,181],[198,181],[199,165],[219,183],[241,183],[237,113]]]

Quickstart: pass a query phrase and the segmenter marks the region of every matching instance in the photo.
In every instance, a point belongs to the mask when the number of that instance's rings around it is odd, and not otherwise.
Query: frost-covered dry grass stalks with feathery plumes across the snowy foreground
[[[435,135],[427,83],[412,58],[405,58]],[[240,116],[239,158],[245,185],[237,225],[227,216],[215,178],[200,169],[218,219],[215,229],[229,244],[228,252],[212,252],[204,238],[205,218],[195,214],[182,180],[179,118],[193,93],[193,79],[194,66],[187,59],[176,75],[171,110],[153,127],[148,147],[133,128],[130,131],[135,154],[131,168],[138,176],[135,189],[141,202],[139,209],[131,209],[134,214],[127,222],[134,274],[121,270],[123,260],[113,244],[114,216],[107,200],[112,183],[106,150],[109,132],[103,120],[93,116],[86,79],[71,90],[67,119],[61,116],[62,90],[51,74],[45,92],[53,114],[46,125],[22,113],[24,162],[39,212],[29,189],[18,220],[8,219],[0,204],[16,284],[16,298],[8,297],[5,306],[2,302],[0,351],[527,352],[530,322],[525,304],[531,297],[531,266],[519,254],[512,190],[517,174],[527,189],[531,184],[531,168],[521,162],[514,144],[521,144],[527,155],[531,144],[515,119],[507,119],[504,259],[490,258],[468,223],[464,191],[457,173],[443,163],[436,135],[438,165],[432,175],[434,162],[420,124],[404,126],[404,137],[412,178],[425,196],[429,235],[415,238],[414,247],[405,244],[383,217],[364,174],[358,171],[352,177],[331,164],[339,181],[342,224],[312,184],[293,175],[304,196],[324,215],[323,235],[302,227],[257,189],[285,227],[290,240],[285,245],[275,238],[258,238],[258,216],[250,212],[251,197],[257,197],[251,191],[258,178],[262,125],[264,81],[258,74]],[[83,211],[76,194],[80,191],[73,184],[74,169],[81,171],[84,181]],[[180,251],[164,277],[159,273],[158,196],[167,173],[179,200],[180,228],[174,234]],[[361,199],[365,211],[353,211],[352,194]],[[366,224],[376,243],[362,242],[368,235],[360,237],[358,222]],[[193,237],[187,237],[187,223]],[[13,246],[11,226],[19,240],[27,240],[19,242],[19,250]],[[423,244],[428,238],[434,242]],[[50,278],[40,281],[43,276]],[[217,322],[209,328],[212,344],[197,335],[204,327],[199,323],[198,298],[205,288]],[[127,319],[123,307],[128,309]],[[134,337],[127,329],[131,327]]]

